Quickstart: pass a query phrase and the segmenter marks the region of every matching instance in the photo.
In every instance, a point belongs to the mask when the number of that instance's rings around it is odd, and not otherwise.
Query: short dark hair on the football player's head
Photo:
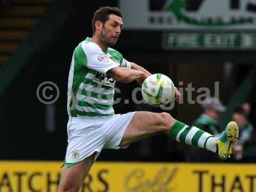
[[[102,24],[105,24],[105,22],[109,19],[109,15],[114,14],[122,18],[122,13],[117,7],[110,7],[110,6],[102,6],[97,10],[92,19],[92,33],[95,33],[95,21],[100,21]]]

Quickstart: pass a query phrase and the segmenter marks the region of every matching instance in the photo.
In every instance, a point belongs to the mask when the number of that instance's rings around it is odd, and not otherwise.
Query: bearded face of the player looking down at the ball
[[[108,47],[113,47],[118,40],[122,27],[123,20],[121,17],[113,14],[109,15],[109,19],[102,25],[99,31],[101,42]]]

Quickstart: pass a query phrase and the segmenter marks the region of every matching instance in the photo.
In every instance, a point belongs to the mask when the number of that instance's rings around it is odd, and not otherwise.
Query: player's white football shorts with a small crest
[[[119,145],[135,113],[100,118],[70,117],[65,163],[78,163],[94,152],[97,152],[96,160],[102,148],[127,148],[128,145]]]

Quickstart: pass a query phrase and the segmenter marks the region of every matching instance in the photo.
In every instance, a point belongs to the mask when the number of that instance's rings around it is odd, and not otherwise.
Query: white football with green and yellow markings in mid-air
[[[141,93],[143,99],[151,106],[164,106],[174,98],[175,87],[169,77],[153,74],[143,81]]]

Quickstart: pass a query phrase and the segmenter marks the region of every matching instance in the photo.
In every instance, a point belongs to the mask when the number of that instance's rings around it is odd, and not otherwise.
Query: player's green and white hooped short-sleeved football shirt
[[[103,52],[99,45],[86,38],[77,45],[68,76],[67,108],[69,116],[109,116],[113,109],[115,79],[106,72],[115,67],[129,67],[120,52],[108,48]]]

